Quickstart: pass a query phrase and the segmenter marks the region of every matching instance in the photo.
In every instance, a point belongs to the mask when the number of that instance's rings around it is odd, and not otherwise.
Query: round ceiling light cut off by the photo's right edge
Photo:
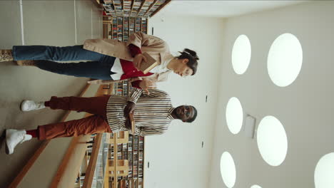
[[[314,172],[315,188],[334,187],[334,152],[320,158]]]

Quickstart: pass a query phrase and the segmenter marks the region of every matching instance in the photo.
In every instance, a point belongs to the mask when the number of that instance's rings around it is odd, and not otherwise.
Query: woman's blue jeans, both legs
[[[115,57],[94,51],[83,46],[13,46],[14,61],[36,60],[35,65],[45,71],[76,77],[101,80],[111,79],[111,67]],[[58,63],[55,61],[84,61],[80,63]]]

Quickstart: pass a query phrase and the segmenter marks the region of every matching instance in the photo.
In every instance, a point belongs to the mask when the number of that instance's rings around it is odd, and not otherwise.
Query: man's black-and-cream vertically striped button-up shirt
[[[173,120],[170,96],[162,90],[149,90],[150,95],[141,89],[133,90],[130,98],[112,95],[106,107],[108,124],[113,132],[127,130],[125,127],[124,108],[128,101],[136,103],[133,114],[136,130],[134,135],[159,135],[168,130]],[[131,133],[131,130],[128,130]]]

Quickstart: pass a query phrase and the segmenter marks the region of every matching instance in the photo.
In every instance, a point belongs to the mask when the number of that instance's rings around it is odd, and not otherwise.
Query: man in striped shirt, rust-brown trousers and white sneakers
[[[76,110],[93,115],[79,120],[39,125],[36,130],[5,130],[6,153],[12,154],[19,143],[36,137],[49,140],[56,137],[72,137],[99,132],[128,130],[131,134],[129,114],[135,120],[134,135],[159,135],[168,130],[171,120],[193,122],[197,110],[193,106],[181,105],[173,108],[170,96],[162,90],[149,90],[149,95],[136,88],[131,97],[103,95],[94,98],[51,97],[46,102],[24,100],[22,111],[49,107],[53,110]]]

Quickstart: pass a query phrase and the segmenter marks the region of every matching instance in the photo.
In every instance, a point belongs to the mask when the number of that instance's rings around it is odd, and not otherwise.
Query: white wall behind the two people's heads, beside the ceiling
[[[171,95],[173,105],[196,106],[198,117],[191,124],[174,120],[166,134],[146,137],[145,187],[207,187],[223,21],[156,15],[148,26],[148,33],[151,34],[153,27],[154,36],[167,41],[171,51],[190,48],[198,53],[200,61],[196,75],[189,78],[170,75],[168,82],[158,85]]]

